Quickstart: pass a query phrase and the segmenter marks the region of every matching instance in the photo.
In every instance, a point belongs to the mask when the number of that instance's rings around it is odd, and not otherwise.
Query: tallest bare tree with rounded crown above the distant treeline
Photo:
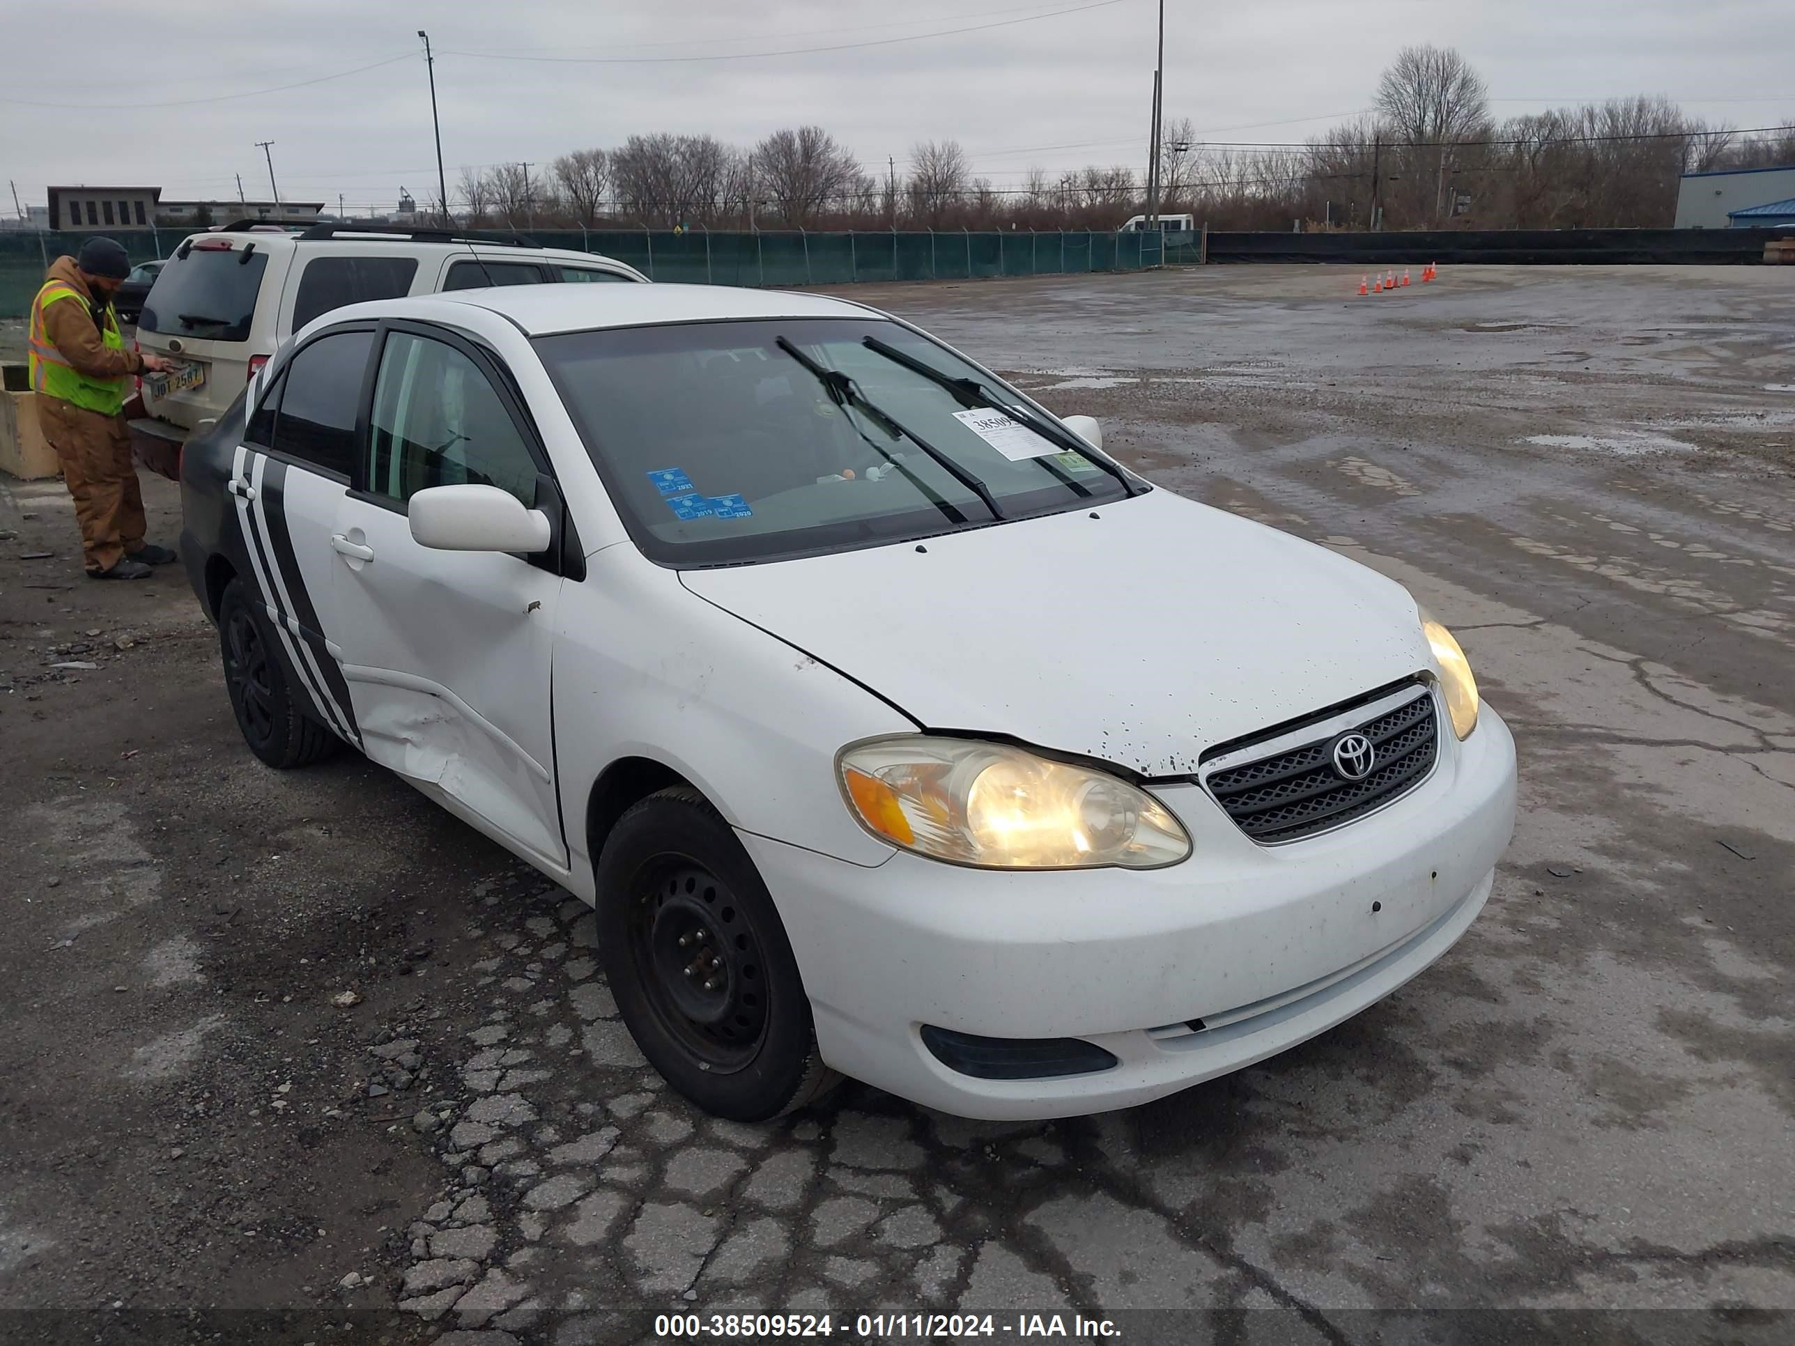
[[[1377,81],[1384,129],[1397,142],[1398,197],[1420,223],[1438,224],[1447,212],[1454,147],[1483,136],[1490,126],[1490,92],[1483,77],[1450,47],[1404,47]]]

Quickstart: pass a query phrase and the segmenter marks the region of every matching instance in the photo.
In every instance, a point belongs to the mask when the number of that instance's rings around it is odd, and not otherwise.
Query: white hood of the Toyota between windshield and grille
[[[1405,589],[1167,490],[682,580],[924,729],[1145,777],[1432,668]]]

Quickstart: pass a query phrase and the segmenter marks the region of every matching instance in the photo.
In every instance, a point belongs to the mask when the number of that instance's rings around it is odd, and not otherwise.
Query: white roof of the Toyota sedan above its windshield
[[[503,314],[530,336],[587,332],[600,327],[652,327],[732,318],[867,318],[883,316],[860,303],[799,291],[736,289],[734,285],[499,285],[447,294],[390,300],[413,316],[454,319],[454,309]],[[429,310],[429,312],[425,312]]]

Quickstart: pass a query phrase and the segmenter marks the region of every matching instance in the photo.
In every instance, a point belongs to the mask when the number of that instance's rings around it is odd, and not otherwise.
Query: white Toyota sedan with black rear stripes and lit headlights
[[[723,1116],[1239,1070],[1443,955],[1513,827],[1508,729],[1400,585],[856,303],[339,309],[181,476],[250,748],[346,743],[592,903]]]

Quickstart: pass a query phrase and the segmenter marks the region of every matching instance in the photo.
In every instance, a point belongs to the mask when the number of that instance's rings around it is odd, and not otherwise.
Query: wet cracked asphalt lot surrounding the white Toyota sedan
[[[768,1127],[695,1114],[580,903],[364,763],[260,768],[181,578],[88,585],[59,486],[0,479],[0,1333],[574,1346],[939,1310],[1788,1341],[1795,289],[1355,287],[851,291],[1097,415],[1160,485],[1407,583],[1519,741],[1515,843],[1436,967],[1075,1122],[854,1084]],[[171,535],[172,486],[145,495]]]

